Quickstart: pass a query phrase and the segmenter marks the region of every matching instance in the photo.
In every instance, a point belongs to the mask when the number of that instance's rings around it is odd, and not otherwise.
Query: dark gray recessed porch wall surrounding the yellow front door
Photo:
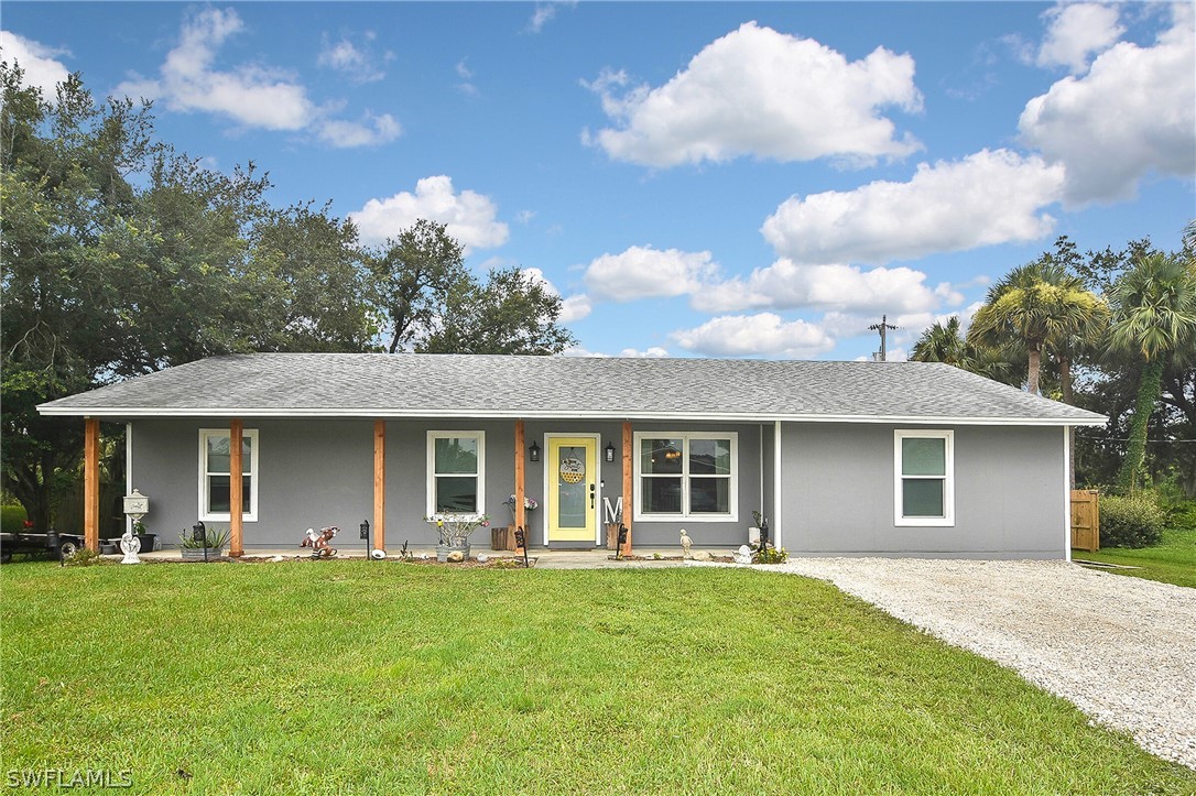
[[[178,534],[199,519],[199,430],[227,428],[227,420],[139,420],[133,423],[133,486],[151,498],[145,522],[164,545],[176,545]],[[335,525],[336,544],[365,549],[359,540],[361,520],[373,521],[373,421],[244,418],[258,431],[258,519],[245,522],[244,544],[254,547],[298,546],[304,529]],[[507,525],[511,512],[504,501],[514,492],[514,423],[512,421],[392,420],[386,423],[386,547],[404,541],[427,547],[435,544],[435,528],[423,521],[427,495],[427,431],[481,430],[486,433],[484,512],[495,525]],[[739,433],[738,522],[634,522],[637,546],[677,545],[685,527],[697,545],[733,545],[746,540],[751,510],[759,508],[759,437],[755,424],[637,423],[637,431],[722,430]],[[771,427],[767,429],[771,435]],[[599,497],[616,504],[622,494],[622,423],[586,421],[525,422],[525,445],[547,448],[545,434],[598,434],[602,461]],[[608,442],[618,452],[603,461]],[[526,454],[525,454],[526,455]],[[526,494],[541,503],[529,512],[529,543],[544,540],[544,457],[525,458]],[[602,502],[599,502],[602,506]],[[627,507],[630,516],[630,507]],[[599,520],[605,518],[600,514]],[[471,538],[488,549],[489,529]]]

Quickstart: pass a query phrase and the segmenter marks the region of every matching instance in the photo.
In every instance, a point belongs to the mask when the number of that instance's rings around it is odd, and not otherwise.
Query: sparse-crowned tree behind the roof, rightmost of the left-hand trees
[[[416,221],[370,261],[391,354],[559,354],[575,342],[542,280],[507,268],[482,283],[443,224]]]

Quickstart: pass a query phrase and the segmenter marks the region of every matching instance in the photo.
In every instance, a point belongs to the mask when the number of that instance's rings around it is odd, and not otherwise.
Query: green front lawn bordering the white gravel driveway
[[[0,578],[5,770],[128,770],[155,794],[1196,791],[1196,771],[799,577],[342,561]]]

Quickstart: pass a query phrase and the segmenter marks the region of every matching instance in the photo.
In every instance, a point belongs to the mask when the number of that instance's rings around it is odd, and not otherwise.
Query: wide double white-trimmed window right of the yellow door
[[[635,434],[635,519],[736,521],[739,435]]]

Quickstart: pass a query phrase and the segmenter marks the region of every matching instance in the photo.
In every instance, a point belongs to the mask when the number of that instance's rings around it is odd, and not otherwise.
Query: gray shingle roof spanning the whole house
[[[603,417],[1099,424],[930,362],[245,354],[43,404],[45,415]]]

